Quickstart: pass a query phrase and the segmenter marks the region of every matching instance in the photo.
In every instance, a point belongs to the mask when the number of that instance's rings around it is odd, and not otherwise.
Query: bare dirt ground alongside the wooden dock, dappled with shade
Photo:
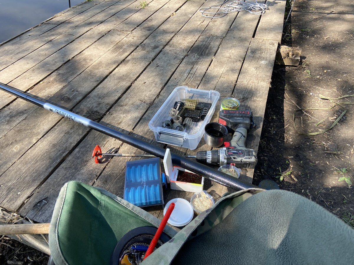
[[[354,227],[353,24],[350,1],[296,0],[281,44],[302,50],[301,65],[274,66],[253,184],[271,179]],[[295,111],[296,130],[303,134],[295,130]],[[0,264],[47,261],[42,252],[0,239]]]

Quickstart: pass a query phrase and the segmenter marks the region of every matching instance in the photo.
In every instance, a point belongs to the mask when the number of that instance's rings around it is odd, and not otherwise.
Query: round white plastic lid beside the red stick
[[[164,208],[164,215],[172,202],[175,203],[175,208],[173,209],[170,218],[167,220],[167,223],[174,226],[183,226],[192,221],[194,216],[192,205],[182,198],[175,198],[167,202]]]

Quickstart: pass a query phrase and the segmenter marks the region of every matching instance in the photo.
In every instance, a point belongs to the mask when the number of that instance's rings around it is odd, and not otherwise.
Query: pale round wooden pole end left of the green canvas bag
[[[48,233],[49,233],[49,223],[0,225],[0,235],[48,234]]]

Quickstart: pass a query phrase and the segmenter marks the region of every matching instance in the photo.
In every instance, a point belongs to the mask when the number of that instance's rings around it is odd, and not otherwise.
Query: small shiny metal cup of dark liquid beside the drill
[[[204,141],[210,147],[220,147],[225,141],[227,128],[218,122],[211,122],[205,125]]]

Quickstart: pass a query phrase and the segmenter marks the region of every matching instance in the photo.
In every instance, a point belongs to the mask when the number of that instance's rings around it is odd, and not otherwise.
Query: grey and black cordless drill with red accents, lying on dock
[[[230,142],[219,150],[199,151],[196,160],[208,164],[229,165],[253,169],[257,164],[257,154],[253,149],[246,148],[247,130],[253,126],[250,110],[221,110],[219,123],[234,130]]]

